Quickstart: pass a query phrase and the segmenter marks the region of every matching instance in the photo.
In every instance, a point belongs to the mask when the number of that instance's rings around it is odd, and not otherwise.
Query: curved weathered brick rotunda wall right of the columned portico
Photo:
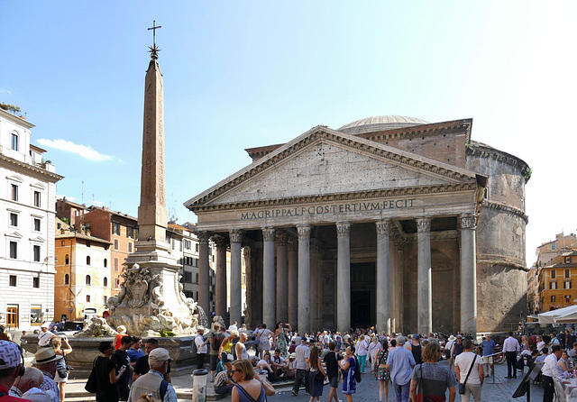
[[[527,313],[527,163],[472,143],[466,168],[489,178],[477,225],[478,332],[516,330]]]

